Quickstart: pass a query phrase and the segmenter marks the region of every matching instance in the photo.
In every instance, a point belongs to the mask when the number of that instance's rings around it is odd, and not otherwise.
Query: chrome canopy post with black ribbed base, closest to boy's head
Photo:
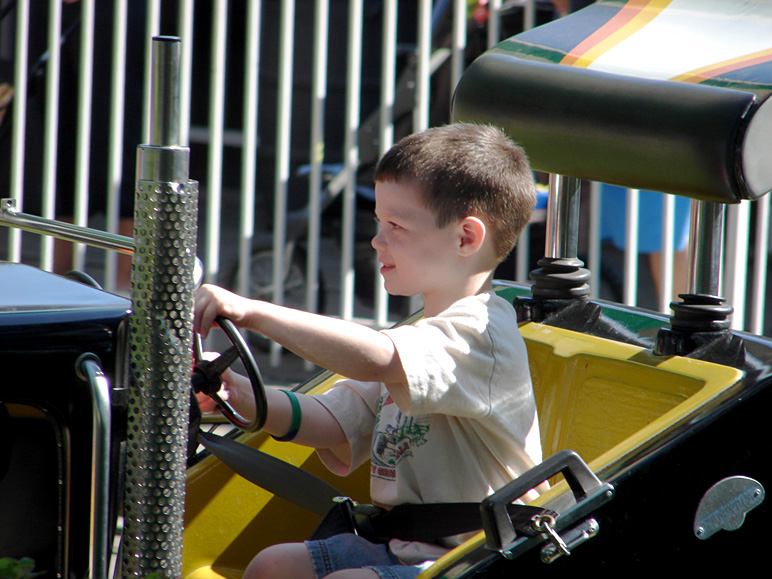
[[[533,297],[515,304],[521,321],[543,321],[568,304],[585,302],[590,294],[590,272],[577,257],[580,201],[580,179],[550,175],[545,256],[531,272]]]

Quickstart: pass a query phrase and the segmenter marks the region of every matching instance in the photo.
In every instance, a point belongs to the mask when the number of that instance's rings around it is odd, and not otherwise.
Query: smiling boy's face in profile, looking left
[[[417,186],[377,182],[375,216],[380,224],[372,245],[378,252],[386,291],[429,296],[454,285],[456,228],[437,227]]]

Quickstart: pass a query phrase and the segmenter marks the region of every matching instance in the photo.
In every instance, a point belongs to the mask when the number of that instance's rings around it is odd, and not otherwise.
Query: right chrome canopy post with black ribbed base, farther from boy
[[[687,293],[670,303],[670,327],[657,333],[654,353],[687,356],[711,348],[712,360],[739,367],[745,348],[729,331],[732,307],[720,297],[724,243],[723,203],[692,203]]]

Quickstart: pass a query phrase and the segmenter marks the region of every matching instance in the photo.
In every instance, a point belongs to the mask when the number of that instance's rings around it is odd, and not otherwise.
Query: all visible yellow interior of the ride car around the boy
[[[572,449],[595,473],[619,470],[652,440],[688,421],[737,385],[743,372],[701,360],[654,356],[629,344],[547,326],[520,327],[528,347],[545,457]],[[322,393],[340,378],[326,375],[301,390]],[[314,451],[280,443],[262,433],[240,442],[304,468],[359,502],[368,502],[367,465],[340,478],[326,471]],[[553,488],[536,504],[566,491]],[[261,549],[302,541],[319,518],[257,488],[214,457],[188,472],[184,542],[185,577],[240,577]],[[448,553],[421,576],[436,577],[485,544],[480,533]]]

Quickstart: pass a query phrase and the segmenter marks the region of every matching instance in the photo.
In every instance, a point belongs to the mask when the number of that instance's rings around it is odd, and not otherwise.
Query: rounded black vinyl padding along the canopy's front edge
[[[493,49],[461,78],[453,120],[502,127],[539,171],[738,203],[772,188],[750,188],[743,178],[743,162],[769,156],[769,150],[742,152],[759,104],[750,92],[525,60]]]

